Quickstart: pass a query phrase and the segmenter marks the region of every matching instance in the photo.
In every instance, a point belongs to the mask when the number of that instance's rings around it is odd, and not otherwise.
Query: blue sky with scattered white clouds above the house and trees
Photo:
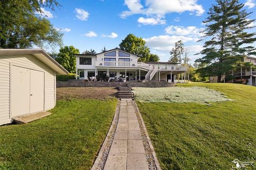
[[[191,62],[200,55],[204,42],[197,42],[214,0],[57,0],[61,5],[42,9],[54,28],[63,35],[63,45],[73,45],[82,53],[119,47],[128,34],[142,37],[150,52],[168,61],[170,51],[180,39],[191,51]],[[253,12],[256,0],[241,0]],[[256,13],[250,19],[256,19]],[[256,22],[253,23],[256,26]],[[255,28],[254,28],[255,29]],[[254,30],[255,31],[255,30]],[[254,44],[256,45],[256,44]],[[48,49],[46,51],[51,51]],[[59,48],[54,49],[55,52]]]

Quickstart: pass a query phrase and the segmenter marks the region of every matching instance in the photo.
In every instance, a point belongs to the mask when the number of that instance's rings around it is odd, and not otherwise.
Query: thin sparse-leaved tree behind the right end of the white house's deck
[[[184,44],[182,41],[178,41],[175,43],[174,48],[172,48],[172,51],[170,51],[171,57],[169,59],[169,62],[175,62],[181,64],[182,59],[181,55],[184,52]]]

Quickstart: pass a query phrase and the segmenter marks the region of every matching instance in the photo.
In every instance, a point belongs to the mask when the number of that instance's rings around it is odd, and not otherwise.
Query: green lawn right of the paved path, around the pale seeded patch
[[[231,169],[256,160],[256,87],[198,83],[233,101],[137,102],[163,169]],[[179,85],[182,87],[194,84]],[[250,167],[255,169],[256,166]],[[249,168],[249,169],[250,169]]]

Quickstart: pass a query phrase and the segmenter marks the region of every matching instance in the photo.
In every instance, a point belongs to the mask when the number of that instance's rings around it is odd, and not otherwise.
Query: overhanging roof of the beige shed
[[[1,55],[25,55],[31,54],[35,58],[45,63],[48,67],[53,69],[60,75],[67,75],[68,71],[63,68],[57,61],[55,61],[49,54],[42,49],[0,49]]]

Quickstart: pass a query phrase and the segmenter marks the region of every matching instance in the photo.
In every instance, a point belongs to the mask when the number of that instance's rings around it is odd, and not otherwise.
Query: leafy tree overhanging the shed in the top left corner
[[[0,47],[29,48],[62,45],[63,34],[38,13],[42,7],[58,7],[55,0],[0,1]]]

